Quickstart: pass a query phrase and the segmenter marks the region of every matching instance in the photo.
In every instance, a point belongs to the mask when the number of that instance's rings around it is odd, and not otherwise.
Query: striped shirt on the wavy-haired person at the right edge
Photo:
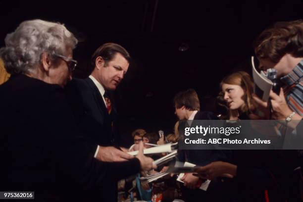
[[[303,115],[303,60],[292,72],[283,76],[281,81],[285,84],[284,94],[288,106],[296,113]]]

